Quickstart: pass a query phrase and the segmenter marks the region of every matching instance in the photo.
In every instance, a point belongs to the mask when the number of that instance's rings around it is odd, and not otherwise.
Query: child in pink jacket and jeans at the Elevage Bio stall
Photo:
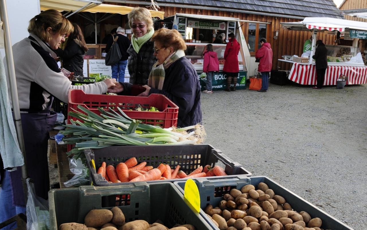
[[[203,72],[207,75],[206,90],[204,93],[213,93],[211,79],[214,76],[214,72],[219,72],[219,61],[217,53],[213,51],[213,45],[207,44],[206,51],[204,52],[204,65]]]

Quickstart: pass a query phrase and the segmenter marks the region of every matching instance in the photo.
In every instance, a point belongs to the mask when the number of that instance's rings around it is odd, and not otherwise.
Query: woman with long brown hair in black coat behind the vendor
[[[83,33],[77,24],[73,24],[74,31],[70,33],[65,49],[58,48],[56,53],[62,59],[62,67],[75,76],[83,76],[83,55],[88,50]]]

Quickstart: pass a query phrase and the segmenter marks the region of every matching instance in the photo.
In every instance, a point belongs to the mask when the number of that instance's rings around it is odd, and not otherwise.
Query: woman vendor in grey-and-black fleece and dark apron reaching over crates
[[[65,36],[73,32],[68,19],[56,10],[46,10],[29,21],[29,37],[15,43],[13,48],[15,77],[21,110],[22,128],[29,177],[34,181],[36,195],[48,199],[47,146],[50,130],[56,121],[51,111],[53,97],[68,102],[70,89],[101,94],[115,86],[115,79],[90,85],[72,86],[58,68],[54,57]],[[3,170],[3,169],[0,169]],[[0,222],[19,212],[25,213],[25,201],[20,167],[4,173],[0,190]]]

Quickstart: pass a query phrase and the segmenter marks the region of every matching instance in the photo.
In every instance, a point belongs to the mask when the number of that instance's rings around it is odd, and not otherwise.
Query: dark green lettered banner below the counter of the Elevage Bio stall
[[[199,76],[201,72],[198,72],[197,75]],[[240,71],[238,73],[237,79],[237,86],[236,89],[246,89],[246,71]],[[206,78],[200,78],[200,86],[201,91],[206,90]],[[213,91],[216,90],[224,90],[227,87],[227,75],[225,72],[218,72],[214,73],[214,76],[211,79],[211,83],[213,86]],[[233,86],[233,85],[232,85]]]

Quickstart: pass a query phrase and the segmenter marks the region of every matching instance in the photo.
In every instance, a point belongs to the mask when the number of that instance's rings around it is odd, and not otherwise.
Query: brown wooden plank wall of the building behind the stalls
[[[136,7],[138,5],[130,4],[130,7]],[[145,6],[141,6],[145,7]],[[268,37],[266,38],[271,44],[273,49],[273,69],[277,69],[277,60],[281,59],[282,55],[298,55],[301,56],[303,53],[304,42],[309,39],[311,32],[306,31],[288,31],[283,29],[280,22],[297,22],[299,19],[282,18],[282,17],[270,17],[265,15],[257,14],[243,14],[230,11],[212,11],[212,10],[200,10],[185,7],[160,7],[159,11],[164,11],[164,17],[170,17],[176,13],[184,14],[197,14],[197,15],[212,15],[212,16],[223,16],[240,18],[243,20],[270,22],[268,25]],[[248,23],[241,26],[243,34],[247,39]],[[273,39],[274,31],[279,30],[279,37]],[[335,35],[329,35],[326,33],[319,33],[317,39],[323,40],[325,44],[334,44],[336,39]],[[285,62],[279,62],[280,69],[290,69],[290,64]]]

